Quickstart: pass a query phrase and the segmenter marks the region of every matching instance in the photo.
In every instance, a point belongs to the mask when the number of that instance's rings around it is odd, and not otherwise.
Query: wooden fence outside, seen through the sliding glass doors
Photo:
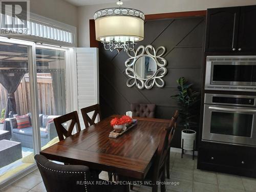
[[[37,91],[39,113],[46,115],[56,115],[52,78],[50,73],[37,74]],[[7,91],[0,83],[1,111],[6,107],[7,97]],[[26,74],[20,81],[20,84],[15,92],[15,102],[18,115],[24,115],[28,112],[31,112],[31,97],[28,74]]]

